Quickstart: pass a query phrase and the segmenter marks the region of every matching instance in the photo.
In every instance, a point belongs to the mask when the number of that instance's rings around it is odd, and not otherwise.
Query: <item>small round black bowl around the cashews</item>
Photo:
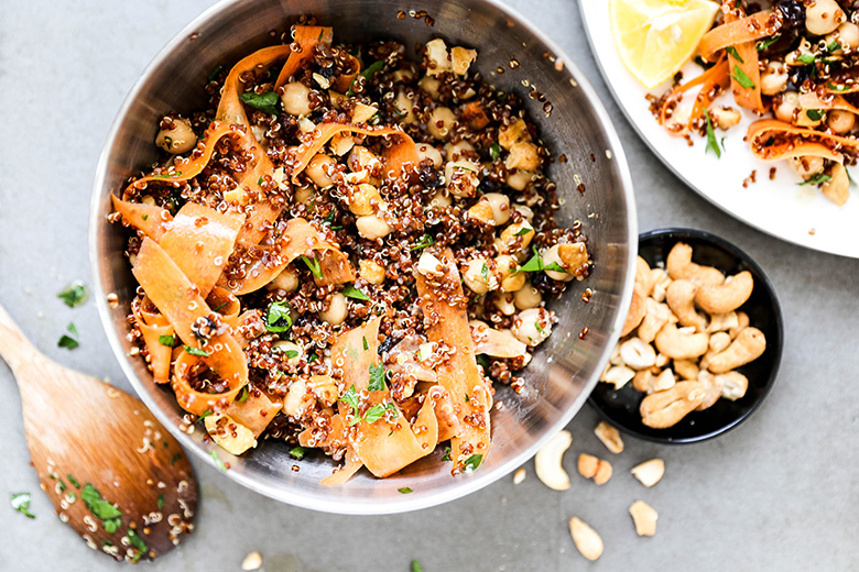
[[[782,311],[772,284],[761,267],[733,244],[699,230],[663,229],[639,237],[639,255],[651,267],[664,266],[668,252],[677,242],[692,246],[692,260],[698,264],[715,266],[727,276],[742,271],[752,274],[752,295],[739,310],[749,315],[750,326],[763,332],[766,350],[753,362],[738,367],[749,378],[749,389],[742,398],[736,402],[720,398],[713,407],[693,411],[667,429],[653,429],[641,422],[639,406],[644,394],[635,391],[631,383],[620,389],[608,383],[597,384],[589,403],[600,416],[627,433],[661,443],[703,441],[737,427],[749,417],[775,382],[784,340]]]

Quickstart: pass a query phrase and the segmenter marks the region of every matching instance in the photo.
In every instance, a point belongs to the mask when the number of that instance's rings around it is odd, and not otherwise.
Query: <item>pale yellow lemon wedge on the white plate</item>
[[[718,9],[710,0],[609,0],[620,59],[635,79],[653,89],[695,54]]]

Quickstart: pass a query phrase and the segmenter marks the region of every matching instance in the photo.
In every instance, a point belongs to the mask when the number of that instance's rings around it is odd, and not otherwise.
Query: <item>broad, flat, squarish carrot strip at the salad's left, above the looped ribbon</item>
[[[186,202],[159,245],[206,298],[224,272],[244,216]]]

